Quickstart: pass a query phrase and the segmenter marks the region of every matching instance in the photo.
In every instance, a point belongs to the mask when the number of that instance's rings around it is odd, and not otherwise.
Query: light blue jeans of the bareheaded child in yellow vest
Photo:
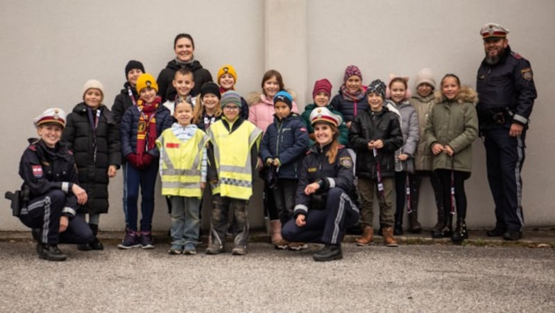
[[[200,199],[171,196],[171,244],[198,244]]]

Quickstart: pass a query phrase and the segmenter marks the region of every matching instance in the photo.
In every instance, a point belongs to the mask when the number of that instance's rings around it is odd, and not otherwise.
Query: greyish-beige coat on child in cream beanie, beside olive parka
[[[432,108],[434,107],[434,93],[430,93],[427,97],[422,97],[418,93],[409,99],[409,102],[416,109],[418,117],[418,145],[414,154],[414,170],[432,171],[432,150],[427,149],[426,136],[424,130],[426,122]]]

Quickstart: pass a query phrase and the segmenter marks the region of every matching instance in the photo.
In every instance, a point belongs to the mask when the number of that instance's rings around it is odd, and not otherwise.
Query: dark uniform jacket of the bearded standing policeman
[[[530,62],[512,52],[510,46],[507,46],[499,63],[490,65],[485,60],[481,62],[476,90],[482,129],[497,125],[492,118],[497,112],[505,115],[505,127],[510,127],[511,123],[527,125],[533,100],[537,96],[533,73]]]

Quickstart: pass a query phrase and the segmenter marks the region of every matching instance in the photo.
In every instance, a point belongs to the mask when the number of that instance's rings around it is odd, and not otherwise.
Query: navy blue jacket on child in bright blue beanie
[[[280,160],[278,178],[298,179],[308,145],[307,127],[298,114],[293,113],[283,120],[274,116],[273,123],[262,138],[260,158],[264,165],[267,159]]]

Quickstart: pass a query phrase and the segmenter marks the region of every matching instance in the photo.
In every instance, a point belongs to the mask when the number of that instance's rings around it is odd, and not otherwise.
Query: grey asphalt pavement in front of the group
[[[2,312],[555,312],[554,238],[503,246],[407,236],[397,248],[348,236],[343,260],[314,262],[320,249],[278,251],[251,242],[246,256],[170,256],[60,245],[65,262],[37,258],[26,234],[0,233]],[[22,237],[23,236],[23,237]],[[530,236],[529,236],[530,237]],[[253,241],[265,237],[253,236]],[[533,248],[530,248],[533,247]],[[230,248],[228,248],[230,250]]]

